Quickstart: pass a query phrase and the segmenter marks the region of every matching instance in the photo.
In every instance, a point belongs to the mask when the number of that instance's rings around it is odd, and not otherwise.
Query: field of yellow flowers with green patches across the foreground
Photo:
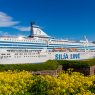
[[[71,71],[58,76],[0,72],[0,95],[95,95],[95,75]]]

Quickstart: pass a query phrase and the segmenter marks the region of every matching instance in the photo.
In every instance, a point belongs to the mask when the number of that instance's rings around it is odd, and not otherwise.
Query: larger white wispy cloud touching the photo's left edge
[[[11,16],[8,16],[4,12],[0,12],[0,27],[11,27],[18,23],[19,21],[13,21]]]

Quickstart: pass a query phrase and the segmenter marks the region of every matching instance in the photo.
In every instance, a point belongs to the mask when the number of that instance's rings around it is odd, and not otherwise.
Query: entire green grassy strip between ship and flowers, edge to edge
[[[63,68],[86,68],[95,65],[95,59],[88,60],[49,60],[44,63],[37,64],[0,64],[0,71],[8,70],[26,70],[26,71],[41,71],[41,70],[56,70],[59,65]]]

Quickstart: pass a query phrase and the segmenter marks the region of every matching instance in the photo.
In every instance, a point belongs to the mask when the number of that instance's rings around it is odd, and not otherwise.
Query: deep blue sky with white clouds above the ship
[[[0,35],[29,35],[31,21],[53,37],[95,40],[95,0],[0,0]]]

